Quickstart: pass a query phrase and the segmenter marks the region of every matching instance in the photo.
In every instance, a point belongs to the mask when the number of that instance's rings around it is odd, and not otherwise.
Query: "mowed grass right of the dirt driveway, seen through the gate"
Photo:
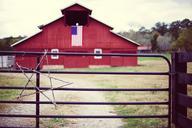
[[[117,68],[119,71],[166,72],[168,66],[160,59],[143,59],[138,67]],[[116,70],[117,70],[116,69]],[[111,69],[113,71],[113,69]],[[98,86],[109,88],[168,88],[168,76],[106,76],[96,80]],[[166,102],[168,92],[108,92],[113,102]],[[167,115],[167,105],[121,105],[115,106],[118,115]],[[124,128],[164,128],[167,119],[124,119]]]

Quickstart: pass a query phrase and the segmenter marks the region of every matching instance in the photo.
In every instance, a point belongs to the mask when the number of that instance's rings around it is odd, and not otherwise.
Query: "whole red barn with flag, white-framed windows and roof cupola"
[[[12,45],[15,51],[76,53],[137,53],[138,43],[114,32],[112,27],[91,17],[91,10],[73,4],[61,10],[63,16],[39,26],[39,33]],[[33,57],[16,57],[16,62],[34,67]],[[91,66],[135,66],[137,57],[49,56],[49,65],[64,68]],[[45,63],[41,66],[45,66]]]

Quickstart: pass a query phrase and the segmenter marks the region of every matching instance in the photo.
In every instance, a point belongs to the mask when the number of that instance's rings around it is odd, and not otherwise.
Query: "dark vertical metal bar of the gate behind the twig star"
[[[39,113],[40,113],[40,105],[39,105],[39,100],[40,100],[40,93],[39,93],[39,87],[40,87],[40,57],[37,57],[37,67],[36,67],[36,128],[39,128]]]

